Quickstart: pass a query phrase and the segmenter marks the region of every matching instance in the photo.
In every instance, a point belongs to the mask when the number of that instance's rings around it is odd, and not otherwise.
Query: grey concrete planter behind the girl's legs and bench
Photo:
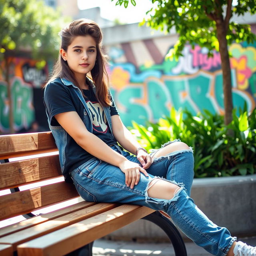
[[[256,174],[196,178],[191,197],[206,216],[232,236],[256,235]],[[168,240],[158,226],[138,220],[106,237],[116,240]],[[184,236],[185,238],[185,236]]]

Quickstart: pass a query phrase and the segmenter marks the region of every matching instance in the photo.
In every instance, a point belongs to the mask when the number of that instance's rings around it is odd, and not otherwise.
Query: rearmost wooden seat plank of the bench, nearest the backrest
[[[21,222],[14,223],[12,225],[6,226],[4,228],[0,228],[0,237],[12,234],[14,232],[18,232],[20,230],[24,230],[25,228],[30,228],[35,226],[36,224],[40,224],[46,222],[48,220],[52,220],[54,218],[61,217],[63,215],[75,212],[77,210],[81,210],[96,204],[96,202],[79,202],[70,206],[67,206],[62,209],[55,210],[53,212],[49,212],[46,214],[41,214],[39,216],[32,217],[27,220],[22,220]]]

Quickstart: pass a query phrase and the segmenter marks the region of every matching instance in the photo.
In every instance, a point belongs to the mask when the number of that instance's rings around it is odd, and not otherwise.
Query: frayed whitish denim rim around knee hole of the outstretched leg
[[[176,188],[176,190],[174,191],[174,195],[173,195],[172,198],[170,198],[170,199],[163,199],[163,198],[153,198],[153,197],[148,196],[148,190],[150,188],[152,188],[152,186],[154,186],[156,184],[156,182],[158,182],[159,180],[164,180],[166,182],[170,182],[170,183],[175,184],[175,185],[178,186]],[[164,204],[164,205],[170,204],[171,202],[175,202],[175,201],[178,200],[180,191],[183,190],[183,189],[185,189],[183,183],[177,183],[174,180],[166,180],[164,178],[156,176],[156,177],[154,177],[154,178],[152,178],[151,180],[148,181],[147,187],[145,189],[146,202],[150,201],[150,202],[155,202],[155,203]]]

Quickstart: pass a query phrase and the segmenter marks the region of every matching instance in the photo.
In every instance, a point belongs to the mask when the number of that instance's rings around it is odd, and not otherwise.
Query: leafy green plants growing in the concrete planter
[[[188,111],[172,108],[170,116],[144,127],[133,122],[132,133],[146,148],[157,149],[169,140],[180,138],[192,146],[195,177],[218,177],[256,173],[256,109],[249,115],[246,108],[233,121],[223,124],[223,116],[204,113],[192,116]],[[228,134],[233,131],[234,136]]]

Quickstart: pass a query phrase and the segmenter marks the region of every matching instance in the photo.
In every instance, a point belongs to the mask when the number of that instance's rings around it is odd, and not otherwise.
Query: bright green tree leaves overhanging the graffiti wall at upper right
[[[112,0],[113,1],[113,0]],[[256,13],[256,0],[237,1],[236,6],[228,5],[225,0],[151,0],[152,8],[146,13],[149,18],[140,24],[146,24],[151,28],[170,32],[174,27],[179,34],[179,39],[168,56],[176,59],[182,56],[182,49],[186,43],[194,46],[206,47],[209,55],[213,50],[219,50],[219,38],[217,26],[225,27],[227,44],[232,42],[247,41],[252,43],[256,40],[255,34],[251,32],[250,25],[230,22],[230,18],[236,15],[244,15],[246,12]],[[116,5],[128,6],[128,0],[117,0]],[[134,0],[131,3],[134,4]],[[231,2],[230,2],[231,3]],[[228,10],[228,11],[226,11]]]

